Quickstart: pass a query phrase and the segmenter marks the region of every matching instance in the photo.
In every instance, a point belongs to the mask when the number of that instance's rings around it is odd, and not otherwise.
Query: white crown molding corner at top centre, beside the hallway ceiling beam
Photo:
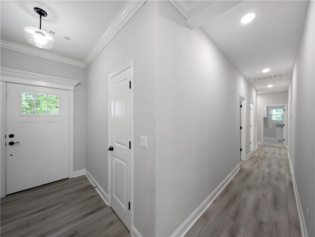
[[[187,19],[197,11],[201,10],[208,4],[210,4],[213,0],[204,1],[201,4],[191,6],[189,4],[196,4],[197,1],[189,1],[188,0],[169,0],[170,3]]]

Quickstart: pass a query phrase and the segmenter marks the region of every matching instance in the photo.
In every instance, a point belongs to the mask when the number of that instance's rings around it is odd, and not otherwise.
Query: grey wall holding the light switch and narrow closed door
[[[155,2],[146,2],[87,67],[87,170],[108,193],[108,75],[134,59],[134,226],[154,236]],[[140,148],[140,135],[148,149]]]

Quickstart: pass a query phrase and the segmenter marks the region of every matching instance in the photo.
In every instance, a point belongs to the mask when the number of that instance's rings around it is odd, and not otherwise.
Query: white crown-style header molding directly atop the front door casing
[[[32,72],[0,67],[0,81],[32,86],[74,90],[80,82],[60,77],[53,77]]]

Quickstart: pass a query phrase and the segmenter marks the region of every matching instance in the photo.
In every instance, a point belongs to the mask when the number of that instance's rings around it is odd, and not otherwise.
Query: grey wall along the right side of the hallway
[[[315,2],[309,1],[289,88],[289,152],[308,236],[315,236]],[[310,219],[307,218],[310,209]]]

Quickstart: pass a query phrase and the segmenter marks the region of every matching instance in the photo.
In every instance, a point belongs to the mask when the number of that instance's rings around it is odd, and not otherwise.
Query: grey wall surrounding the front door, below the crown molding
[[[1,48],[1,67],[80,81],[74,89],[73,169],[85,168],[86,158],[86,77],[85,69],[54,60]]]

